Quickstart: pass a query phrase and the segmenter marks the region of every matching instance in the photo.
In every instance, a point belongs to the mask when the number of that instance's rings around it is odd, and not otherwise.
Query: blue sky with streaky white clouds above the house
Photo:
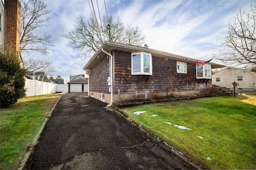
[[[82,70],[89,58],[66,47],[67,39],[62,33],[73,28],[76,17],[91,14],[88,0],[46,0],[50,13],[47,28],[38,33],[52,35],[48,56],[58,71],[53,73],[67,82],[70,75],[85,74]],[[91,1],[89,0],[91,3]],[[96,0],[94,9],[98,17]],[[146,36],[149,48],[199,60],[213,57],[211,45],[218,41],[225,31],[224,26],[233,21],[241,9],[248,12],[255,0],[105,0],[108,14],[118,15],[125,25],[139,26]],[[104,0],[98,0],[100,16],[106,15]],[[99,17],[98,17],[99,18]],[[34,54],[38,56],[40,54]],[[23,56],[26,57],[26,56]],[[213,63],[220,63],[213,60]]]

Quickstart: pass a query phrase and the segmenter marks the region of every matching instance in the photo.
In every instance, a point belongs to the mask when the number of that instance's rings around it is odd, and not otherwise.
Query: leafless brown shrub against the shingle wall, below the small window
[[[167,76],[162,82],[162,89],[164,90],[164,96],[169,97],[178,92],[184,86],[186,80],[184,78],[176,78],[175,76]]]

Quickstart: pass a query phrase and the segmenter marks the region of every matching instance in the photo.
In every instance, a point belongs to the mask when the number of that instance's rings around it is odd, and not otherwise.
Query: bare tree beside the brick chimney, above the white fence
[[[37,51],[43,55],[48,54],[49,47],[54,46],[50,40],[51,35],[36,35],[35,31],[48,26],[51,12],[44,0],[20,0],[20,53],[30,55],[30,52]],[[50,74],[55,70],[50,59],[35,59],[30,57],[24,59],[24,67],[31,72],[45,72]]]

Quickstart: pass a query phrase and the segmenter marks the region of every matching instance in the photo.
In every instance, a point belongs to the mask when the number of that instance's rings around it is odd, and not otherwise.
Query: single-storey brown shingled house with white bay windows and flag
[[[224,65],[209,63],[196,66],[196,59],[163,51],[114,42],[105,42],[84,66],[89,74],[89,95],[112,104],[118,93],[124,99],[147,98],[164,94],[168,76],[185,80],[179,95],[199,94],[212,86],[211,69]]]

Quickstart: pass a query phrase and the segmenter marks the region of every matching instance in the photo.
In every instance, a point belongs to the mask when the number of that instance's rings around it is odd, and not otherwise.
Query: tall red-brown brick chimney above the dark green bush
[[[4,5],[6,6],[5,45],[20,51],[20,2],[18,0],[4,0]]]

